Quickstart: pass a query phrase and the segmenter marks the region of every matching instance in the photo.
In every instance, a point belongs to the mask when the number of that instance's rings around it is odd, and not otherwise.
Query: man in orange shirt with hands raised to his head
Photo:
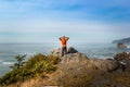
[[[63,57],[64,54],[67,53],[67,40],[69,39],[69,37],[63,36],[63,37],[60,37],[58,39],[62,42],[62,57]]]

